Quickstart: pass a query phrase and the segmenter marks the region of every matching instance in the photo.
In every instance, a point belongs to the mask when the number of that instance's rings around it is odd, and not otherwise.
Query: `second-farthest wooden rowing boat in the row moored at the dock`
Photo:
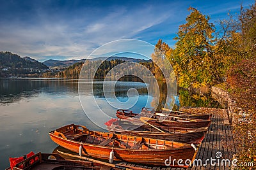
[[[129,112],[127,114],[127,112]],[[129,115],[130,114],[130,115]],[[132,122],[132,124],[142,125],[140,118],[147,119],[147,122],[152,125],[170,126],[170,127],[184,127],[184,128],[201,128],[209,127],[211,120],[195,119],[195,118],[180,118],[174,116],[156,117],[150,114],[136,114],[127,110],[116,111],[116,117]]]

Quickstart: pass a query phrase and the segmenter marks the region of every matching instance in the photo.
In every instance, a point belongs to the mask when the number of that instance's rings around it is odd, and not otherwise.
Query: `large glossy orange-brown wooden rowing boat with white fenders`
[[[170,157],[183,161],[189,159],[193,162],[198,151],[195,145],[186,143],[90,131],[82,125],[74,124],[51,131],[49,135],[58,145],[76,153],[80,152],[81,155],[147,166],[165,166],[164,161]],[[179,166],[177,162],[170,166],[189,167]]]

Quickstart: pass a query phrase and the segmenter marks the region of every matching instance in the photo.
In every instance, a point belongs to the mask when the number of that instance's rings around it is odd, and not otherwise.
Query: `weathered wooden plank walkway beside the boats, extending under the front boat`
[[[212,124],[210,125],[207,134],[205,134],[204,141],[200,145],[198,149],[198,153],[196,155],[196,159],[201,159],[201,162],[193,167],[188,168],[189,170],[208,170],[208,169],[230,169],[232,163],[232,157],[237,152],[237,141],[234,139],[232,127],[229,125],[223,124],[223,119],[220,115],[216,114],[212,116]],[[220,157],[221,156],[221,157]],[[212,164],[210,162],[212,158]],[[139,159],[139,158],[138,158]],[[206,160],[209,159],[207,162]],[[215,160],[214,160],[215,159]],[[225,160],[230,160],[230,166],[225,164]],[[206,164],[205,164],[206,162]],[[221,163],[222,162],[222,163]],[[215,166],[214,166],[214,163]],[[122,162],[125,165],[125,162]],[[146,166],[138,166],[134,164],[126,164],[129,166],[143,167],[145,169],[153,169],[153,170],[181,170],[184,168],[170,168],[170,167],[146,167]]]

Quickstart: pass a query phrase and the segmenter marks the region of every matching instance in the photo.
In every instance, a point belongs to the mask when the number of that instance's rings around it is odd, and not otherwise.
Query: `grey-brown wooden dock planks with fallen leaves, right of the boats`
[[[233,154],[237,153],[237,141],[234,137],[236,134],[232,131],[232,126],[224,125],[221,120],[220,115],[212,116],[212,124],[210,125],[207,134],[205,134],[205,139],[202,141],[202,144],[199,147],[196,159],[202,159],[202,164],[205,163],[206,159],[216,159],[216,153],[221,152],[223,159],[232,160]],[[220,158],[221,162],[221,158]],[[196,166],[189,167],[189,170],[197,169],[230,169],[229,166],[221,166],[216,162],[215,166]]]

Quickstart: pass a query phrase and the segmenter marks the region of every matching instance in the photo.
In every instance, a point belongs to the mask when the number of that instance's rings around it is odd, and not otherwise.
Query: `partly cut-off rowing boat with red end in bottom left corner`
[[[104,164],[95,163],[92,161],[81,161],[81,160],[70,160],[64,159],[61,155],[56,153],[36,153],[30,157],[23,159],[22,157],[10,158],[12,160],[21,160],[19,163],[6,168],[6,170],[63,170],[63,169],[76,169],[76,170],[86,170],[95,169],[99,170],[102,167],[111,169]],[[15,161],[14,161],[15,162]]]

